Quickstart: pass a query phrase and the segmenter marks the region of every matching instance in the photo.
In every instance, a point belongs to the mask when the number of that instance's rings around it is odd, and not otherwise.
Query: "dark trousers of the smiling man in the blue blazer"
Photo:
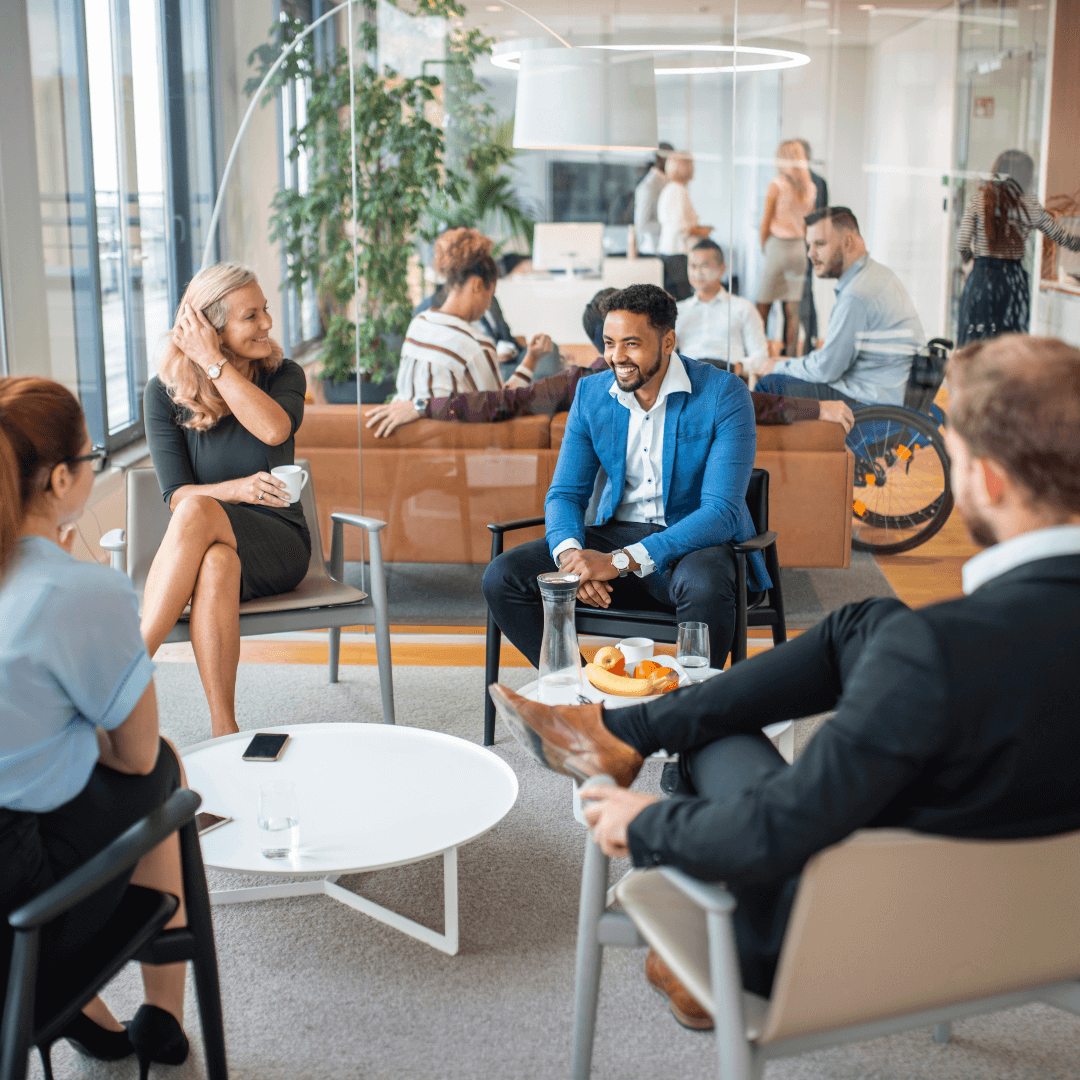
[[[658,525],[608,522],[599,528],[585,529],[585,546],[593,551],[618,551],[659,531]],[[555,569],[548,541],[534,540],[503,552],[484,572],[484,598],[496,624],[534,667],[539,666],[543,640],[543,608],[537,576]],[[724,666],[731,651],[735,623],[735,556],[728,544],[690,552],[672,568],[657,567],[648,577],[627,573],[608,584],[615,608],[646,611],[674,608],[679,622],[707,623],[712,665]]]

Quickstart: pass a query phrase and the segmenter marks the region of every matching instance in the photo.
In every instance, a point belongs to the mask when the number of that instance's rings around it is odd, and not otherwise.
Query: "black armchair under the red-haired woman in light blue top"
[[[129,960],[194,967],[199,1020],[210,1080],[227,1080],[221,994],[211,922],[210,895],[194,814],[202,800],[181,788],[153,813],[136,822],[79,869],[13,912],[11,971],[0,1028],[0,1080],[24,1080],[30,1047],[37,1047],[45,1080],[52,1080],[50,1051],[76,1013]],[[167,893],[129,886],[112,918],[94,940],[65,961],[48,986],[38,985],[40,934],[80,901],[137,863],[179,829],[188,924],[164,930],[178,901]]]

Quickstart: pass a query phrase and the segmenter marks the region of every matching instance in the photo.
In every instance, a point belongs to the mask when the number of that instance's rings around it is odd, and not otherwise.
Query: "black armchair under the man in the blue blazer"
[[[780,559],[777,556],[777,534],[769,530],[769,473],[755,469],[746,487],[746,509],[750,510],[754,529],[752,540],[731,545],[735,553],[735,633],[731,643],[731,662],[746,659],[746,631],[750,626],[771,626],[772,640],[780,645],[787,640],[784,622],[784,597],[780,584]],[[543,525],[543,515],[523,517],[515,522],[497,522],[488,525],[491,530],[491,558],[502,554],[507,532]],[[747,592],[746,556],[751,552],[765,554],[765,567],[772,579],[772,586],[764,592]],[[656,608],[650,611],[632,611],[617,608],[591,608],[578,605],[575,622],[579,634],[597,634],[604,637],[651,637],[654,642],[673,645],[678,637],[678,620],[673,610]],[[499,660],[502,653],[502,632],[487,616],[487,663],[484,680],[484,745],[495,742],[495,703],[487,687],[499,678]]]

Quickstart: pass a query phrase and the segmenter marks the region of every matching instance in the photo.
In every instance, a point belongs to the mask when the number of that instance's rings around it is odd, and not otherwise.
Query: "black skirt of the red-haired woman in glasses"
[[[157,810],[180,786],[180,766],[161,741],[146,777],[95,766],[86,786],[44,813],[0,808],[0,977],[6,980],[13,931],[8,916],[106,848],[124,829]],[[41,935],[41,973],[85,945],[117,909],[134,873],[109,882],[51,922]]]

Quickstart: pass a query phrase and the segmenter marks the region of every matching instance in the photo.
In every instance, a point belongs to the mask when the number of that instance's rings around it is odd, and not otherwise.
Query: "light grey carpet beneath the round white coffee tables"
[[[325,677],[321,666],[241,665],[241,726],[378,720],[375,667],[345,667],[337,686]],[[519,686],[529,673],[510,669],[503,677]],[[394,683],[402,723],[480,740],[481,669],[400,667]],[[205,738],[208,714],[194,665],[160,665],[158,687],[165,733],[180,746]],[[500,825],[460,852],[458,956],[444,956],[325,896],[215,908],[235,1080],[569,1075],[582,834],[570,812],[569,781],[537,766],[503,731],[499,738],[496,752],[516,771],[521,795]],[[658,779],[659,766],[650,762],[639,783],[656,789]],[[212,885],[221,883],[220,875],[212,877]],[[363,875],[353,887],[441,929],[441,881],[436,860]],[[595,1080],[715,1076],[712,1038],[676,1026],[645,983],[643,962],[642,950],[607,951]],[[131,1016],[140,1000],[135,969],[123,972],[106,998],[117,1015]],[[199,1030],[190,989],[187,1027],[193,1035]],[[188,1064],[156,1066],[152,1076],[202,1077],[198,1037],[192,1045]],[[137,1075],[134,1059],[86,1063],[66,1044],[57,1047],[54,1061],[60,1078]],[[36,1063],[30,1075],[41,1076]],[[772,1063],[766,1075],[1074,1080],[1080,1077],[1080,1018],[1028,1007],[958,1024],[951,1045],[917,1031]]]

